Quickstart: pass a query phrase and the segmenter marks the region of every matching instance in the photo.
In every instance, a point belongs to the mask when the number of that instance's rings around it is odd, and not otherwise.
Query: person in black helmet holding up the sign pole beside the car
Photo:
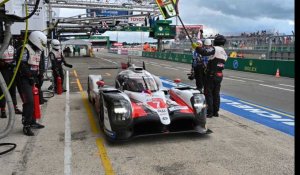
[[[217,35],[214,39],[215,54],[209,59],[206,72],[205,97],[208,105],[207,117],[219,117],[220,89],[223,80],[223,69],[227,60],[227,54],[222,46],[226,43],[223,35]]]

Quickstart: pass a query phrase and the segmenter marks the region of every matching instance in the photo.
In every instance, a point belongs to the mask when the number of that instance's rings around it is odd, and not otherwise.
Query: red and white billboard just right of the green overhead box
[[[193,40],[201,39],[200,31],[201,30],[203,31],[203,25],[185,25],[185,28]],[[188,40],[188,36],[187,36],[183,26],[176,26],[175,40],[178,42]]]

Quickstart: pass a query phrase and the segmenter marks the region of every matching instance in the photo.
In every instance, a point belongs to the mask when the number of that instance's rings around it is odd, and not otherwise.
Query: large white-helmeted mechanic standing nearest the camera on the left
[[[18,72],[17,86],[21,89],[20,95],[23,101],[23,133],[27,136],[34,136],[32,128],[41,129],[44,125],[37,123],[33,119],[33,93],[32,88],[37,83],[39,64],[43,49],[46,47],[47,37],[41,31],[33,31],[28,37],[28,44],[21,60]],[[17,51],[17,57],[21,54],[21,48]]]

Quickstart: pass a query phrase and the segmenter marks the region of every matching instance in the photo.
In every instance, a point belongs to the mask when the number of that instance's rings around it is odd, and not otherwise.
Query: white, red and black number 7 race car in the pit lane
[[[157,134],[212,132],[206,128],[207,108],[200,91],[179,86],[166,89],[160,78],[146,71],[144,66],[128,63],[125,70],[118,73],[115,87],[105,85],[101,75],[89,75],[87,93],[109,141]]]

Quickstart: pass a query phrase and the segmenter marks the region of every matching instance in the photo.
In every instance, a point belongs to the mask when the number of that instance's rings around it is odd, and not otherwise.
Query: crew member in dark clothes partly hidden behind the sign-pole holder
[[[193,49],[202,47],[202,41],[198,40]],[[202,59],[202,56],[196,52],[196,50],[193,51],[193,61],[192,61],[192,69],[191,69],[191,76],[189,76],[190,80],[193,80],[195,78],[196,80],[196,88],[203,93],[202,89],[204,87],[204,62]]]

